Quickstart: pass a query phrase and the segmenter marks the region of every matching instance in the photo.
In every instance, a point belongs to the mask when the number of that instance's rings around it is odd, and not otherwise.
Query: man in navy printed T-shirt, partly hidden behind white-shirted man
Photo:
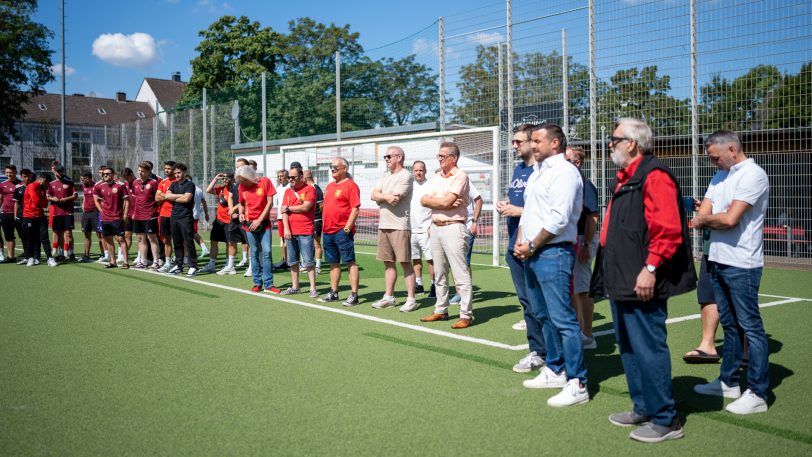
[[[508,251],[505,261],[510,268],[510,276],[513,279],[513,286],[516,288],[516,296],[522,305],[524,313],[523,327],[527,331],[527,344],[530,352],[522,357],[513,371],[516,373],[529,373],[532,370],[544,366],[544,358],[547,350],[544,347],[544,338],[541,333],[541,322],[533,315],[533,308],[527,300],[527,288],[524,280],[524,262],[513,255],[513,245],[516,244],[516,232],[519,229],[519,218],[524,209],[524,189],[527,187],[527,180],[533,173],[533,165],[536,159],[533,158],[533,149],[530,145],[530,135],[533,126],[524,124],[513,130],[513,149],[519,155],[521,161],[513,171],[513,179],[510,180],[508,188],[508,200],[497,202],[496,210],[507,219],[508,228]]]

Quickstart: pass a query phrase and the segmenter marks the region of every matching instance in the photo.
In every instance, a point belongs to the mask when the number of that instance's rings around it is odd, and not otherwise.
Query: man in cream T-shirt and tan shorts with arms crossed
[[[409,239],[409,206],[414,179],[409,170],[403,167],[406,153],[402,148],[389,146],[383,159],[387,170],[378,187],[372,189],[372,201],[380,207],[376,258],[384,263],[386,290],[383,298],[372,307],[380,309],[395,306],[395,281],[398,277],[395,262],[398,262],[403,268],[403,281],[406,284],[406,303],[400,310],[409,312],[417,309]]]

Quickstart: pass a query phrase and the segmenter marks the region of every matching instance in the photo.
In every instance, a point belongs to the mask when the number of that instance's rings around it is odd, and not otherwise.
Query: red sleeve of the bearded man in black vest
[[[659,267],[676,254],[682,243],[677,186],[668,173],[649,173],[643,186],[643,204],[649,236],[646,263]]]

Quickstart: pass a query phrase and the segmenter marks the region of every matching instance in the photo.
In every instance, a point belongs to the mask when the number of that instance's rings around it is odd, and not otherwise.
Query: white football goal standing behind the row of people
[[[496,212],[496,202],[503,199],[503,167],[505,160],[512,163],[510,152],[502,150],[504,144],[499,127],[446,130],[416,134],[374,136],[343,141],[318,142],[283,146],[280,148],[282,165],[299,162],[310,169],[316,183],[322,189],[331,180],[330,163],[343,157],[350,164],[349,173],[361,190],[361,211],[356,222],[356,243],[374,245],[378,232],[378,205],[371,200],[372,190],[377,187],[386,171],[383,156],[390,146],[399,146],[406,154],[405,166],[411,171],[415,161],[426,164],[429,179],[439,168],[437,153],[440,144],[452,141],[460,147],[457,166],[465,171],[471,183],[482,195],[482,214],[479,234],[474,252],[490,254],[492,265],[500,264],[504,224]]]

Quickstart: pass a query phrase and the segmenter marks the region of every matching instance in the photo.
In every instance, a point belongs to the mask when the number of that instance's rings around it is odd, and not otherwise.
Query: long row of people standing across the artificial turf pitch
[[[597,190],[580,171],[583,149],[568,147],[558,125],[520,126],[513,135],[519,162],[507,189],[508,199],[495,205],[507,219],[506,261],[523,308],[524,319],[514,328],[526,331],[530,349],[514,371],[538,370],[534,378],[524,381],[527,388],[560,389],[548,399],[550,406],[588,402],[584,349],[597,344],[592,336],[591,297],[608,297],[633,403],[631,411],[613,414],[609,421],[635,426],[630,437],[644,442],[683,436],[671,391],[667,302],[697,285],[689,209],[684,207],[678,179],[652,154],[653,143],[645,122],[617,121],[608,146],[620,170],[608,186],[611,198],[598,228]],[[769,182],[764,170],[747,158],[734,132],[716,132],[705,146],[719,170],[690,224],[708,234],[700,282],[712,289],[724,330],[724,348],[719,377],[697,385],[695,391],[736,399],[725,408],[731,413],[764,412],[768,408],[768,349],[758,288]],[[420,320],[447,321],[448,308],[456,302],[459,319],[451,327],[461,330],[473,325],[470,259],[482,199],[458,167],[459,159],[457,144],[440,144],[437,171],[428,179],[424,161],[415,161],[410,172],[401,147],[386,150],[387,170],[371,194],[379,207],[376,257],[385,267],[384,295],[373,308],[396,305],[399,264],[406,288],[400,311],[418,309],[416,294],[425,291],[422,259],[426,259],[432,281],[429,297],[436,301],[431,314]],[[312,172],[298,162],[279,170],[276,185],[257,173],[255,163],[239,159],[236,165],[233,174],[216,175],[206,189],[216,196],[217,211],[210,262],[203,271],[215,271],[218,244],[224,242],[227,262],[217,273],[235,274],[242,244],[243,264],[246,246],[250,251],[246,276],[252,277],[252,291],[300,293],[300,273],[305,273],[310,297],[331,303],[340,301],[343,265],[350,285],[343,304],[359,304],[355,231],[361,199],[347,160],[337,157],[331,161],[332,180],[323,192]],[[58,243],[72,256],[76,189],[61,166],[54,168],[55,178],[34,177],[30,170],[22,170],[19,180],[16,171],[13,165],[7,166],[8,180],[0,185],[7,259],[15,257],[16,227],[25,234],[25,264],[38,263],[42,244],[49,265],[56,265],[43,210],[51,204]],[[184,164],[166,162],[164,172],[166,177],[158,179],[152,164],[142,162],[138,178],[131,176],[123,182],[116,181],[109,167],[101,167],[99,182],[92,175],[83,176],[85,258],[90,235],[97,231],[107,252],[107,267],[128,268],[126,256],[123,262],[112,260],[114,241],[126,252],[127,232],[134,232],[139,242],[136,268],[179,274],[188,267],[190,276],[200,271],[195,248],[200,211],[195,206],[200,204],[202,192]],[[271,216],[274,207],[276,224]],[[273,271],[280,266],[272,261],[274,225],[284,240],[284,260],[291,269],[291,286],[285,290],[274,284]],[[320,297],[315,278],[322,252],[330,268],[330,287]],[[593,259],[594,270],[590,268]],[[450,297],[449,271],[454,277],[454,297]],[[748,389],[742,392],[740,367],[745,345]]]

